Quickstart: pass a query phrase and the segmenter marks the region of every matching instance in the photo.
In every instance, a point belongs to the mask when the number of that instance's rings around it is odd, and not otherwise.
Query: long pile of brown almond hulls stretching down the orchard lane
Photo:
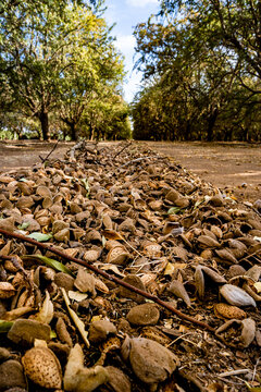
[[[260,200],[239,204],[137,144],[82,143],[0,175],[0,392],[254,391]]]

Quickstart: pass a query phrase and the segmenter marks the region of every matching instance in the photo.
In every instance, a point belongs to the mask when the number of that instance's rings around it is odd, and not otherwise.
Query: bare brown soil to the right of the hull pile
[[[154,143],[147,145],[241,200],[261,198],[261,146],[247,143]]]

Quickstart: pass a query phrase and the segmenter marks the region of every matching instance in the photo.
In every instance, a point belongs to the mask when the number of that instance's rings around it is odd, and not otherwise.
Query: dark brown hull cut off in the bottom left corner
[[[17,360],[10,359],[0,365],[0,392],[14,387],[25,389],[26,380],[23,366]]]

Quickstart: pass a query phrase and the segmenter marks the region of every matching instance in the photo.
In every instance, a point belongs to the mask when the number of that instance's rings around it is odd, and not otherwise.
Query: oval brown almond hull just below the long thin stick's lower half
[[[159,321],[160,311],[154,304],[142,304],[133,307],[127,320],[134,326],[154,326]]]

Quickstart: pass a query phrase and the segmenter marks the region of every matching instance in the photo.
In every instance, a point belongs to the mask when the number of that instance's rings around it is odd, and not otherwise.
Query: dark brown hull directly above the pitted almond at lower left
[[[22,345],[33,345],[35,339],[50,340],[51,328],[36,320],[17,319],[11,327],[8,338]]]

